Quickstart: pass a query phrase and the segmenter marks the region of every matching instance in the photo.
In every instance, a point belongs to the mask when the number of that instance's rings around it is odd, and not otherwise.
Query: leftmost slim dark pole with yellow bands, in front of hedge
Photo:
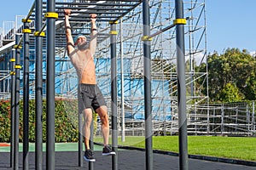
[[[10,167],[14,167],[15,157],[15,49],[12,49],[11,65],[11,145],[10,145]]]

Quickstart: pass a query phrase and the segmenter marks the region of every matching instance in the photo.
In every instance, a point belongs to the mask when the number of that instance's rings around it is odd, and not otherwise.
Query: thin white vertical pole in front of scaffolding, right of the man
[[[120,19],[120,69],[121,69],[121,115],[122,115],[122,142],[125,142],[125,96],[124,96],[124,58],[123,58],[123,23]]]

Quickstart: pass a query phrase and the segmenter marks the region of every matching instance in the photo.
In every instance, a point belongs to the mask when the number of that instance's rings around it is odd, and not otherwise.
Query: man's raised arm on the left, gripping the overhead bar
[[[71,54],[74,50],[74,42],[71,32],[71,26],[69,23],[69,15],[71,14],[71,9],[64,9],[65,14],[65,29],[66,29],[66,38],[67,38],[67,54]]]

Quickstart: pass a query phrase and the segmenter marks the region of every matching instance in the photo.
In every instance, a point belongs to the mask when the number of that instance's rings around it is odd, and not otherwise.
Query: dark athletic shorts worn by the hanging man
[[[96,84],[79,84],[79,112],[91,108],[94,111],[106,105],[100,88]]]

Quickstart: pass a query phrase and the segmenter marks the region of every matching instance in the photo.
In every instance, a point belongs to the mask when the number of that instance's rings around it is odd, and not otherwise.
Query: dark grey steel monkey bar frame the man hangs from
[[[77,3],[77,2],[82,2],[82,3]],[[89,3],[90,2],[90,3]],[[151,72],[150,72],[150,61],[151,61],[151,57],[150,57],[150,40],[149,38],[147,39],[147,37],[150,37],[150,20],[149,20],[149,16],[150,16],[150,12],[149,12],[149,2],[147,0],[144,1],[137,1],[137,0],[125,0],[125,1],[65,1],[65,2],[61,2],[61,1],[51,1],[48,0],[47,2],[43,2],[42,1],[37,1],[37,3],[33,3],[32,5],[32,9],[30,10],[28,16],[27,16],[27,20],[33,20],[33,21],[37,21],[39,20],[39,15],[42,13],[40,12],[41,10],[43,10],[43,14],[49,14],[49,13],[57,13],[58,14],[58,18],[55,18],[54,16],[50,16],[50,17],[46,17],[42,20],[42,22],[44,23],[43,25],[41,25],[41,29],[38,23],[36,23],[36,29],[39,32],[43,32],[46,29],[46,38],[43,38],[43,46],[44,44],[46,44],[47,47],[47,82],[50,82],[47,84],[47,169],[55,169],[55,133],[54,133],[54,128],[55,128],[55,105],[52,105],[52,103],[55,102],[55,48],[63,48],[66,46],[66,37],[65,37],[65,30],[64,30],[64,23],[60,22],[60,24],[56,25],[55,22],[61,21],[63,20],[63,9],[64,8],[72,8],[73,9],[73,14],[71,15],[71,25],[73,28],[73,35],[77,35],[81,32],[84,33],[84,35],[89,35],[90,34],[90,28],[89,25],[86,24],[86,22],[88,22],[90,20],[90,14],[91,13],[96,13],[98,14],[98,22],[110,22],[110,23],[114,23],[115,21],[119,20],[120,18],[122,18],[123,16],[125,16],[125,14],[128,14],[129,12],[131,12],[132,9],[136,8],[140,3],[143,3],[143,37],[146,37],[146,39],[144,39],[144,43],[143,43],[143,53],[144,53],[144,80],[145,80],[145,84],[144,84],[144,90],[145,90],[145,100],[144,100],[144,105],[145,105],[145,120],[146,120],[146,167],[147,169],[153,169],[153,158],[152,158],[152,116],[151,116]],[[181,19],[183,18],[183,8],[182,8],[182,3],[183,1],[181,0],[176,0],[176,13],[177,19]],[[37,5],[35,5],[37,4]],[[37,8],[35,8],[35,6],[37,6]],[[41,6],[41,8],[40,8]],[[34,10],[35,9],[35,10]],[[35,18],[36,17],[36,18]],[[32,25],[33,26],[33,22]],[[111,30],[115,30],[115,28],[113,27],[114,25],[111,25]],[[24,28],[26,28],[26,26],[24,26]],[[32,30],[35,31],[35,30]],[[26,34],[24,34],[26,35]],[[183,30],[183,26],[177,26],[177,48],[181,49],[181,53],[177,53],[177,78],[179,81],[185,81],[185,77],[184,77],[184,43],[183,43],[183,36],[184,36],[184,30]],[[108,38],[109,35],[108,34],[104,34],[104,33],[99,33],[98,34],[98,41],[102,42],[104,41],[106,38]],[[24,37],[24,42],[23,42],[23,46],[25,45],[25,42],[28,40],[28,38],[25,36]],[[29,42],[31,42],[31,44],[35,44],[34,47],[32,48],[36,48],[37,51],[42,51],[42,45],[41,45],[41,41],[42,39],[38,39],[36,38],[37,43],[34,42],[34,38],[30,37]],[[116,37],[115,36],[111,36],[111,68],[112,68],[112,101],[113,101],[113,105],[112,105],[112,128],[113,128],[113,150],[117,151],[117,141],[115,141],[115,139],[117,139],[117,92],[116,92],[116,84],[117,82],[115,81],[115,78],[117,77],[116,75],[116,47],[115,47],[115,42],[116,42]],[[20,40],[20,42],[17,42],[16,45],[20,46],[20,44],[22,43],[22,41]],[[27,56],[27,50],[28,47],[24,48],[24,56]],[[179,50],[177,50],[179,51]],[[42,54],[39,54],[39,59],[41,57]],[[181,59],[181,60],[180,60]],[[24,62],[26,62],[26,60],[24,60]],[[38,59],[36,60],[36,63],[38,65],[38,68],[40,68],[41,63],[38,61]],[[25,63],[26,64],[26,63]],[[37,70],[39,71],[39,70]],[[27,71],[24,71],[24,74],[28,74]],[[25,75],[26,76],[26,75]],[[42,88],[42,75],[38,74],[38,83],[37,83],[37,89]],[[25,79],[27,80],[27,79]],[[24,81],[25,82],[25,81]],[[17,84],[17,82],[16,82]],[[28,85],[28,84],[27,84]],[[28,86],[27,86],[28,87]],[[182,138],[180,139],[180,144],[182,145],[182,150],[180,150],[182,152],[182,156],[181,156],[181,168],[182,169],[187,169],[187,161],[186,161],[186,132],[185,132],[185,127],[186,127],[186,113],[185,113],[185,93],[184,92],[184,88],[185,87],[185,82],[181,82],[178,86],[178,96],[179,96],[179,101],[181,103],[179,103],[179,118],[181,120],[181,123],[179,123],[179,126],[181,127],[181,136]],[[37,107],[40,110],[40,101],[41,101],[41,97],[39,96],[39,93],[41,92],[40,90],[37,91],[37,99],[38,99],[38,103],[37,103]],[[180,93],[181,92],[181,93]],[[28,99],[28,97],[26,97],[27,95],[27,90],[25,91],[24,94],[24,99]],[[16,99],[16,98],[15,98]],[[26,104],[27,105],[27,102]],[[28,109],[26,107],[26,109]],[[15,114],[17,114],[17,112],[15,112]],[[39,114],[39,113],[38,113]],[[38,115],[39,116],[39,115]],[[27,122],[28,117],[25,116],[24,122]],[[38,121],[38,119],[37,119]],[[38,128],[41,127],[41,122],[38,122]],[[25,128],[24,130],[27,131],[27,129]],[[40,133],[38,132],[38,139],[40,139]],[[26,141],[26,140],[25,140]],[[40,157],[41,152],[40,152],[40,143],[42,141],[38,141],[38,156]],[[27,145],[25,144],[24,146],[24,150],[26,150]],[[26,155],[24,155],[23,157],[24,159],[26,159]],[[113,156],[113,169],[117,169],[117,156]],[[17,160],[16,160],[17,163]],[[23,162],[24,163],[24,168],[26,167],[26,160]],[[41,160],[38,161],[38,165],[39,166],[41,164]],[[40,167],[38,167],[40,168]]]

